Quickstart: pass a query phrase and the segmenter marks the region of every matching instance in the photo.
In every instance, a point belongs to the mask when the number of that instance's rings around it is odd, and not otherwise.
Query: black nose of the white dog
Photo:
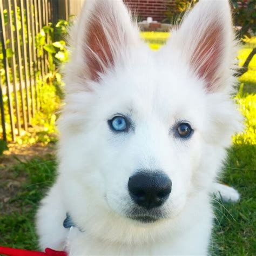
[[[129,178],[131,198],[148,210],[162,205],[172,190],[172,181],[163,172],[139,171]]]

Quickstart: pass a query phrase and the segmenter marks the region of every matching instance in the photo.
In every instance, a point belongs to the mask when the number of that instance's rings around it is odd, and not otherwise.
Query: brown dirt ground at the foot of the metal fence
[[[9,150],[4,151],[3,156],[0,156],[0,212],[9,213],[18,210],[15,204],[8,204],[8,201],[13,198],[21,189],[26,177],[24,174],[17,176],[10,169],[13,165],[20,161],[30,160],[33,157],[43,157],[46,154],[54,154],[55,146],[45,146],[43,144],[35,145],[17,145],[8,144]]]

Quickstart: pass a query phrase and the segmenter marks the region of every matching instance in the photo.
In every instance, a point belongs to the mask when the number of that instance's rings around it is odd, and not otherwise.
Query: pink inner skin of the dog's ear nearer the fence
[[[104,66],[107,67],[113,64],[113,54],[111,52],[110,43],[107,40],[100,16],[92,15],[89,29],[86,35],[86,64],[89,69],[90,78],[97,80],[99,72],[104,71]],[[111,36],[112,31],[107,31]]]

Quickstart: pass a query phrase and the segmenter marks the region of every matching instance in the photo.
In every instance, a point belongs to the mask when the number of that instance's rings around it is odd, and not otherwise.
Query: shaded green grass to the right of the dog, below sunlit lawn
[[[256,146],[234,145],[223,181],[234,186],[241,194],[237,204],[214,204],[214,255],[256,255]]]

